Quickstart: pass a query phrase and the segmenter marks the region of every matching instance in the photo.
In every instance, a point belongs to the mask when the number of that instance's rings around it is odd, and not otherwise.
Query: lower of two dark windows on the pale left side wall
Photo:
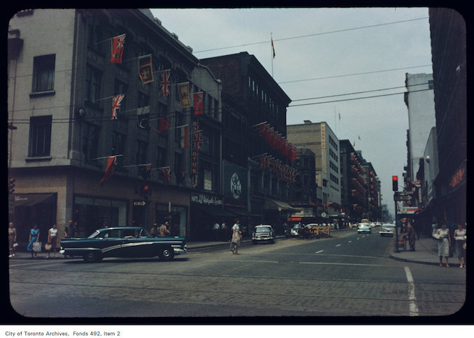
[[[50,156],[52,116],[29,119],[29,156]]]

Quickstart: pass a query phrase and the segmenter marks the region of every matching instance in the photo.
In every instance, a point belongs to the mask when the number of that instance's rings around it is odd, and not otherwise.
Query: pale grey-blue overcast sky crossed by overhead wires
[[[253,54],[292,99],[287,124],[326,122],[339,140],[355,142],[394,215],[392,175],[402,190],[408,129],[396,93],[405,73],[433,73],[428,8],[150,9],[198,59]]]

